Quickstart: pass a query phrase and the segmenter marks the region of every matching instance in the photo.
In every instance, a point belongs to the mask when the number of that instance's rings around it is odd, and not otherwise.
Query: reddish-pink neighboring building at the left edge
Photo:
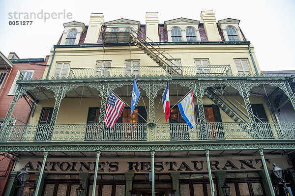
[[[0,127],[17,89],[16,81],[20,78],[32,79],[33,77],[42,77],[48,57],[45,59],[20,59],[15,53],[10,53],[6,58],[0,53]],[[9,125],[26,125],[29,114],[33,115],[35,102],[28,93],[21,98],[14,108]],[[9,173],[16,158],[17,156],[13,154],[0,153],[0,196],[4,194]]]

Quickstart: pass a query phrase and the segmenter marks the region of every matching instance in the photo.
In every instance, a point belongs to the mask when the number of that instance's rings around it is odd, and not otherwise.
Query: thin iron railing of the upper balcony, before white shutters
[[[208,65],[208,66],[180,66],[177,72],[183,77],[206,77],[206,76],[231,76],[230,65]],[[169,70],[160,66],[139,67],[92,67],[71,68],[68,78],[113,78],[113,77],[150,77],[150,76],[172,76]]]

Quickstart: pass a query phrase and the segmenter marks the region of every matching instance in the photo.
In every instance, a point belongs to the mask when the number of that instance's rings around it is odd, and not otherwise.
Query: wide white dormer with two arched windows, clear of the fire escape
[[[177,18],[164,22],[164,29],[168,34],[169,42],[177,41],[201,41],[199,31],[200,21]]]

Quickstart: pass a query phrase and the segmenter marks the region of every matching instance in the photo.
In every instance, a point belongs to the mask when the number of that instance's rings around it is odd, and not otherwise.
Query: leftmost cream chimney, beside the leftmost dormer
[[[103,14],[91,14],[84,43],[97,42],[103,23]]]

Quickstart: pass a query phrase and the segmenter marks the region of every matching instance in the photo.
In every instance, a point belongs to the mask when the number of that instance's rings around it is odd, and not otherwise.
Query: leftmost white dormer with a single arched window
[[[61,37],[60,45],[79,44],[81,34],[86,31],[84,23],[72,21],[64,23],[65,28]]]

